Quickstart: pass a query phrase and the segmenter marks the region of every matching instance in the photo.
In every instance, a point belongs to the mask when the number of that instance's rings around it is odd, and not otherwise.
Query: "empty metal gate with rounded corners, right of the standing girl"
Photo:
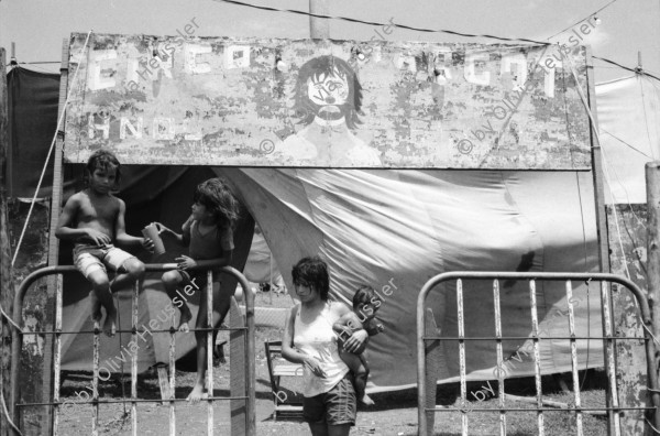
[[[614,356],[614,340],[620,339],[641,339],[645,340],[646,346],[646,356],[647,356],[647,372],[648,372],[648,392],[650,396],[650,401],[652,407],[641,407],[642,410],[652,410],[652,424],[656,428],[660,428],[660,391],[658,390],[658,375],[654,369],[654,351],[656,346],[653,344],[650,327],[651,327],[651,312],[649,309],[649,304],[646,299],[644,292],[631,281],[616,274],[609,273],[512,273],[512,272],[475,272],[475,271],[457,271],[450,273],[438,274],[431,279],[429,279],[425,285],[422,286],[418,297],[417,297],[417,407],[418,407],[418,434],[427,435],[432,432],[432,428],[429,428],[429,413],[436,412],[461,412],[462,413],[462,427],[463,434],[468,434],[468,416],[465,412],[465,366],[464,366],[464,341],[469,339],[473,340],[482,340],[482,339],[491,339],[497,342],[497,356],[502,358],[502,339],[514,339],[513,337],[504,338],[502,336],[502,320],[501,320],[501,307],[499,307],[499,283],[498,280],[527,280],[529,281],[529,301],[530,301],[530,312],[531,312],[531,324],[532,324],[532,334],[530,337],[524,337],[524,339],[531,339],[534,341],[534,358],[535,358],[535,380],[537,386],[537,404],[534,408],[524,408],[525,411],[537,411],[538,415],[538,427],[539,434],[543,435],[543,412],[553,410],[549,407],[543,407],[542,399],[541,399],[541,390],[540,390],[540,357],[539,357],[539,331],[538,331],[538,316],[537,316],[537,307],[536,307],[536,281],[565,281],[566,282],[566,304],[569,306],[569,328],[570,336],[564,339],[570,340],[571,345],[571,363],[572,363],[572,378],[574,384],[574,407],[562,408],[562,411],[572,412],[576,417],[576,429],[578,434],[582,434],[582,412],[583,411],[606,411],[608,416],[608,422],[614,424],[615,434],[620,434],[619,427],[619,413],[625,410],[630,408],[640,408],[640,407],[620,407],[618,403],[617,390],[616,390],[616,373],[615,373],[615,356]],[[427,314],[426,314],[426,298],[431,290],[433,290],[437,285],[443,282],[448,282],[451,280],[457,281],[457,304],[459,312],[459,337],[458,338],[447,338],[441,336],[426,336],[426,323],[427,323]],[[494,337],[485,337],[485,338],[466,338],[464,337],[463,331],[463,291],[462,291],[462,280],[493,280],[493,296],[494,296],[494,305],[495,305],[495,335]],[[609,401],[610,406],[607,407],[582,407],[580,402],[580,388],[575,380],[578,378],[578,364],[576,364],[576,339],[582,339],[575,336],[574,328],[574,313],[573,313],[573,303],[571,302],[572,297],[572,284],[571,281],[595,281],[601,282],[601,304],[602,304],[602,317],[603,317],[603,337],[591,337],[591,339],[603,339],[604,341],[604,353],[605,353],[605,370],[607,373],[607,399]],[[641,318],[644,325],[647,327],[644,329],[644,338],[616,338],[613,336],[612,328],[612,303],[609,298],[609,286],[607,283],[617,283],[627,287],[639,305],[639,309],[641,312]],[[521,338],[522,339],[522,338]],[[557,337],[547,337],[544,339],[557,339]],[[459,341],[459,358],[461,359],[461,402],[462,407],[459,408],[443,408],[443,407],[427,407],[427,385],[426,385],[426,373],[427,373],[427,358],[426,358],[426,344],[425,341],[433,341],[433,340],[458,340]],[[501,361],[501,360],[498,360]],[[474,411],[480,412],[494,412],[499,413],[501,415],[501,425],[499,425],[499,434],[506,435],[506,411],[518,411],[520,408],[515,407],[506,407],[504,402],[504,391],[503,391],[503,381],[504,378],[502,375],[502,371],[497,371],[498,374],[498,385],[499,385],[499,407],[498,408],[473,408]],[[614,390],[614,391],[613,391]]]

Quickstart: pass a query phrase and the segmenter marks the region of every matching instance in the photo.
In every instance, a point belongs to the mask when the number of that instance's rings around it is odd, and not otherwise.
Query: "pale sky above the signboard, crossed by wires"
[[[279,9],[309,10],[309,0],[244,0]],[[636,67],[641,52],[645,70],[660,76],[660,0],[415,0],[415,1],[328,1],[330,15],[406,24],[433,30],[451,30],[504,37],[548,39],[568,43],[580,32],[580,20],[598,9],[601,24],[583,43],[594,56]],[[58,72],[62,40],[72,32],[176,35],[195,19],[199,36],[309,37],[309,19],[285,12],[260,11],[220,0],[0,0],[0,46],[11,53],[16,46],[19,62],[54,62],[26,66]],[[369,41],[378,26],[330,21],[330,37]],[[381,32],[382,33],[382,32]],[[396,29],[388,40],[432,42],[501,43],[446,33],[424,33]],[[614,65],[594,61],[596,83],[630,75]]]

